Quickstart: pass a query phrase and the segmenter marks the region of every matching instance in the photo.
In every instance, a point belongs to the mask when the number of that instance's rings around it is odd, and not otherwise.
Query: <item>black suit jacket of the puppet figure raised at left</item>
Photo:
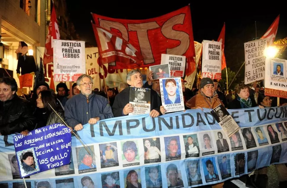
[[[36,72],[36,63],[33,55],[25,55],[26,59],[24,60],[24,56],[21,55],[18,58],[18,64],[17,64],[17,73],[20,74],[20,68],[21,68],[21,75]]]

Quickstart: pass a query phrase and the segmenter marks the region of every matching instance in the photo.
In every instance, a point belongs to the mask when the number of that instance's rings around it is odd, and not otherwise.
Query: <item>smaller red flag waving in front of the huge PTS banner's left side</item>
[[[121,62],[129,68],[139,68],[143,56],[135,47],[112,31],[92,23],[99,48],[99,63]]]

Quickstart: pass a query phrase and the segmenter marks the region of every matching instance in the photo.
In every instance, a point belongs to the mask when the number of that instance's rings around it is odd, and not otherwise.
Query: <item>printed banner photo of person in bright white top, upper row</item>
[[[160,162],[160,141],[159,138],[143,139],[144,163]]]

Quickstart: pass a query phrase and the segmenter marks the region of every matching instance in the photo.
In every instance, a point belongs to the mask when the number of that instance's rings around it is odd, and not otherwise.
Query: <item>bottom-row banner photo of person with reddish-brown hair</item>
[[[134,169],[124,171],[125,188],[141,188],[141,170]]]

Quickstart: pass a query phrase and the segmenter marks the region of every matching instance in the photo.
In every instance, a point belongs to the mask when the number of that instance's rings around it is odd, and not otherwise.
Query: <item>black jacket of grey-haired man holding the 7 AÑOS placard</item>
[[[112,110],[115,117],[122,116],[122,110],[125,105],[130,102],[130,87],[125,88],[119,94],[116,95]],[[161,115],[159,107],[162,105],[159,95],[156,91],[151,89],[151,110],[155,109]]]

